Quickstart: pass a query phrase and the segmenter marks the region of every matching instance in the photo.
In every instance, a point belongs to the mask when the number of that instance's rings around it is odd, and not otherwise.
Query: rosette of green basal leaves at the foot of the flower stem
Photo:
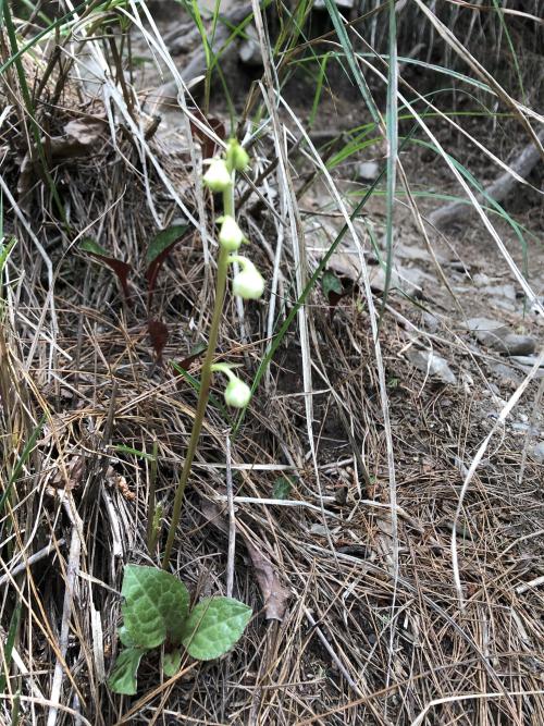
[[[137,672],[149,651],[164,647],[162,669],[174,676],[184,650],[198,661],[211,661],[240,639],[252,611],[232,598],[205,598],[189,611],[189,593],[176,577],[156,567],[127,565],[124,570],[123,625],[119,637],[124,650],[109,678],[115,693],[134,696]]]

